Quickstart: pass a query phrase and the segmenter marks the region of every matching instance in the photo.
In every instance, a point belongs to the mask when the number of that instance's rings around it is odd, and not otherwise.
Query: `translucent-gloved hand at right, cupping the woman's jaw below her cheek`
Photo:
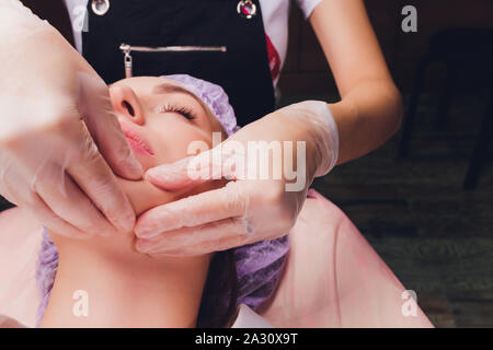
[[[249,175],[249,171],[256,163],[255,152],[248,151],[249,141],[278,141],[280,145],[305,141],[306,150],[293,144],[290,154],[284,149],[284,161],[276,163],[271,158],[266,178],[253,179],[254,172]],[[151,256],[190,256],[280,237],[295,224],[313,177],[329,173],[337,156],[337,127],[326,103],[307,101],[276,110],[211,150],[149,170],[146,178],[168,190],[204,183],[207,176],[194,173],[197,165],[203,175],[231,180],[223,188],[145,212],[135,228],[136,248]],[[289,163],[296,164],[296,183],[285,171],[286,165],[293,166]]]

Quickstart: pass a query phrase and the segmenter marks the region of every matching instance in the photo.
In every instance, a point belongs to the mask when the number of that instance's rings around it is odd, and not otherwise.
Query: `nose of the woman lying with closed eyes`
[[[139,98],[130,86],[121,85],[110,89],[110,97],[116,114],[138,125],[145,124],[144,110]]]

